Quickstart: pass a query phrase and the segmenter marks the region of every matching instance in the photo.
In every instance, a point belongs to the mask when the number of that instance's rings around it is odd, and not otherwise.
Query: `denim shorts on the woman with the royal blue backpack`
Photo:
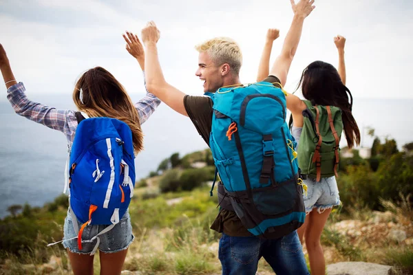
[[[78,228],[81,228],[82,223],[78,221]],[[63,227],[63,247],[69,248],[70,252],[78,254],[90,254],[96,245],[96,239],[87,243],[85,241],[92,239],[98,232],[104,230],[109,225],[87,225],[82,234],[82,250],[78,249],[77,239],[74,238],[77,234],[74,232],[72,217],[70,210],[67,210],[65,225]],[[72,239],[72,240],[70,240]],[[100,243],[98,250],[104,253],[115,253],[125,250],[134,241],[135,237],[132,234],[131,219],[129,210],[123,215],[119,223],[112,230],[99,235]]]

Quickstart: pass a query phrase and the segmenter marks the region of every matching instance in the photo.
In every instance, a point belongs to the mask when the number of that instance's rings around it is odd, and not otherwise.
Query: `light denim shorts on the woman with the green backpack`
[[[339,206],[339,188],[334,176],[322,177],[320,181],[304,179],[304,184],[307,185],[307,195],[304,193],[304,206],[307,213],[314,208],[322,213],[328,208]]]

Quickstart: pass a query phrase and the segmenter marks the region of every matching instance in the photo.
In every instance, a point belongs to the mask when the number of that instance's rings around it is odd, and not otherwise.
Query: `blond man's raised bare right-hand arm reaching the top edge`
[[[297,5],[294,0],[290,1],[294,11],[293,22],[291,23],[290,30],[288,30],[286,39],[284,40],[281,53],[277,59],[275,59],[273,67],[270,71],[270,75],[277,76],[277,78],[279,78],[282,86],[284,86],[287,81],[290,65],[293,62],[295,52],[297,52],[304,19],[315,8],[315,6],[313,6],[314,0],[300,0]]]

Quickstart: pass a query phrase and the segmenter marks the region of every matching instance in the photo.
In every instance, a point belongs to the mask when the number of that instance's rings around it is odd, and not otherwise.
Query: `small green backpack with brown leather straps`
[[[339,143],[343,131],[341,109],[311,104],[304,100],[304,125],[299,138],[298,166],[301,174],[320,181],[337,175]]]

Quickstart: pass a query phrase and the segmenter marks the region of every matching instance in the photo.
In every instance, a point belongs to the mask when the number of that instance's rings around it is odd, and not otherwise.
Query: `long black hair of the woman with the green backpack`
[[[359,126],[351,112],[352,95],[333,65],[323,61],[310,63],[301,74],[298,87],[300,86],[304,98],[313,105],[339,107],[348,148],[352,148],[354,143],[360,144]]]

